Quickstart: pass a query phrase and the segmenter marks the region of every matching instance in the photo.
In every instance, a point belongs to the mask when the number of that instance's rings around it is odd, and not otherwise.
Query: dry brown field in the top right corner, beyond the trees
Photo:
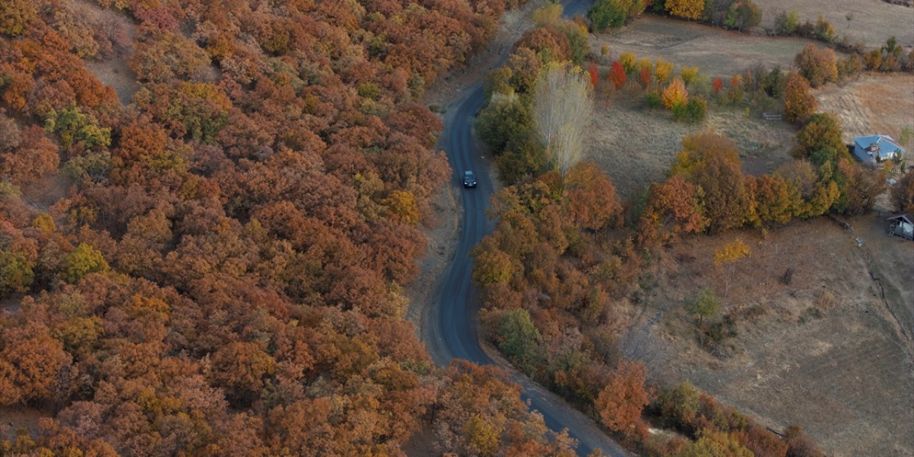
[[[860,42],[866,48],[878,48],[893,35],[899,45],[914,46],[914,8],[908,6],[882,0],[756,0],[755,3],[762,11],[762,27],[772,27],[779,12],[796,10],[801,21],[809,19],[813,24],[823,15],[838,37],[846,34],[850,43]],[[853,14],[850,22],[847,13]]]

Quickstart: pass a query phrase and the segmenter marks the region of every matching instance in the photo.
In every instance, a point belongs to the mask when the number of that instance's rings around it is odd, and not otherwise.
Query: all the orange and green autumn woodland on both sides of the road
[[[508,372],[436,367],[407,319],[432,201],[453,175],[423,94],[525,3],[4,0],[0,418],[36,420],[0,434],[0,456],[399,456],[417,436],[436,455],[576,455]],[[605,27],[663,10],[597,3],[624,13]],[[672,3],[675,16],[694,2]],[[687,382],[649,379],[614,303],[683,237],[873,206],[885,176],[853,163],[809,95],[822,67],[837,78],[834,52],[813,46],[797,58],[806,74],[756,83],[797,127],[796,161],[745,174],[732,140],[696,133],[663,182],[622,201],[597,165],[557,151],[579,153],[595,87],[667,78],[633,57],[600,75],[588,19],[558,5],[533,16],[485,78],[476,125],[505,183],[473,250],[481,337],[632,452],[822,455],[801,427],[774,432]],[[112,61],[129,87],[102,83]],[[658,106],[705,115],[668,82]],[[578,129],[542,134],[543,94],[575,84],[554,103]],[[713,84],[722,99],[743,87]],[[892,197],[910,210],[904,179]],[[716,301],[698,293],[690,313],[711,317]]]

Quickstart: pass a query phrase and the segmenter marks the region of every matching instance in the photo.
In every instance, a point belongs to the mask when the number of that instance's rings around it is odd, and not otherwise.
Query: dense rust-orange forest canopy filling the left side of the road
[[[0,408],[46,417],[0,454],[401,455],[435,410],[567,454],[403,318],[450,173],[418,101],[516,3],[3,2]],[[464,427],[474,385],[514,403]]]

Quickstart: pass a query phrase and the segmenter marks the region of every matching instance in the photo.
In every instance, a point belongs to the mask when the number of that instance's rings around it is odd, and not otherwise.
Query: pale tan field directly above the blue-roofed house
[[[898,140],[901,129],[914,127],[914,75],[867,73],[842,85],[815,92],[819,111],[837,115],[845,142],[855,136],[887,134]]]

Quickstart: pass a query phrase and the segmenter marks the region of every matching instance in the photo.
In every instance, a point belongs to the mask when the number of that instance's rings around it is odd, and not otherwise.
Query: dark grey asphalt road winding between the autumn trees
[[[566,2],[566,16],[586,13],[590,1],[572,0]],[[498,63],[502,65],[505,57]],[[485,210],[494,194],[491,177],[486,170],[489,164],[480,154],[476,139],[473,136],[473,117],[484,105],[482,81],[475,83],[464,92],[462,99],[454,101],[451,106],[455,112],[447,122],[440,146],[448,154],[453,169],[454,184],[461,186],[463,171],[473,170],[478,185],[473,189],[462,189],[463,217],[460,238],[452,263],[435,285],[434,305],[425,315],[426,347],[441,366],[447,366],[452,359],[462,358],[481,365],[491,365],[493,360],[487,356],[479,345],[476,330],[476,312],[478,297],[471,279],[473,260],[470,250],[480,239],[492,231],[493,222]],[[595,449],[601,449],[605,455],[628,456],[615,441],[603,433],[596,424],[571,408],[564,400],[548,392],[526,377],[514,379],[525,389],[524,399],[530,400],[532,409],[543,415],[547,427],[552,430],[569,430],[569,435],[579,441],[577,452],[586,456]]]

